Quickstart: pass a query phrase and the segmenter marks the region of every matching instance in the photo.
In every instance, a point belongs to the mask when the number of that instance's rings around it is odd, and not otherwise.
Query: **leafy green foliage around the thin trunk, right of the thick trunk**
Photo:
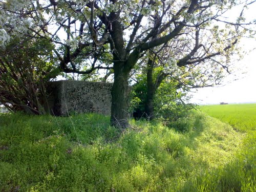
[[[162,68],[154,69],[154,81]],[[138,83],[133,87],[132,107],[134,114],[138,119],[145,116],[145,102],[147,95],[147,79],[145,74],[137,77]],[[165,121],[176,121],[181,117],[186,117],[190,109],[194,109],[195,105],[185,103],[188,101],[188,89],[172,78],[167,77],[160,84],[154,95],[154,111],[157,118]],[[147,117],[146,117],[147,118]]]

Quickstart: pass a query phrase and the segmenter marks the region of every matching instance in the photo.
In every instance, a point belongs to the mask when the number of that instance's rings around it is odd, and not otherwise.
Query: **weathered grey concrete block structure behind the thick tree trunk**
[[[61,80],[48,83],[45,109],[54,115],[100,113],[110,115],[112,83]]]

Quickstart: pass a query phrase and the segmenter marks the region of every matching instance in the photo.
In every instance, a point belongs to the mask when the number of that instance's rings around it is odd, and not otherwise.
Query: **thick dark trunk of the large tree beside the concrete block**
[[[130,71],[123,69],[124,63],[114,63],[114,84],[112,87],[111,125],[119,129],[129,127],[129,86]]]

